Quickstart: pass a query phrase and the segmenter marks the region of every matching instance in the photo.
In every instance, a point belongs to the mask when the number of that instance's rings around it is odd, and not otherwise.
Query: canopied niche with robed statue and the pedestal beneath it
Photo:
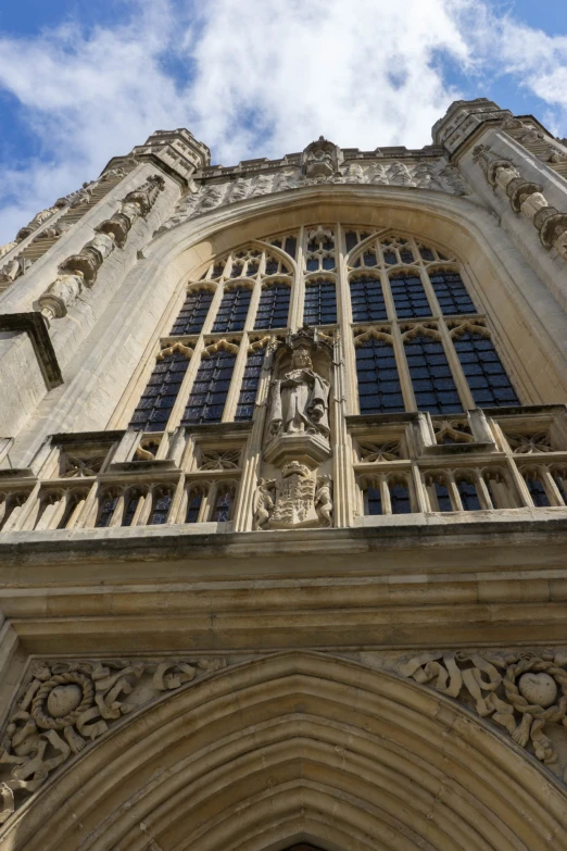
[[[330,458],[330,347],[302,328],[276,353],[264,459],[281,466],[292,460],[315,467]],[[315,362],[315,365],[314,365]]]

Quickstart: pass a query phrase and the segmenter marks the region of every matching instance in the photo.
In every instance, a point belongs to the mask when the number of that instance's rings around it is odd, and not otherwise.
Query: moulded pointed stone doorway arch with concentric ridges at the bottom
[[[325,654],[218,672],[20,810],[2,851],[543,851],[567,798],[445,698]]]

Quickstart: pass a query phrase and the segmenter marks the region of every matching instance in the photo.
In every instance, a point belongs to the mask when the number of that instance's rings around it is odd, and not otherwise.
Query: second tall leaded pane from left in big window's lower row
[[[220,422],[235,360],[234,354],[225,351],[203,356],[181,425]]]

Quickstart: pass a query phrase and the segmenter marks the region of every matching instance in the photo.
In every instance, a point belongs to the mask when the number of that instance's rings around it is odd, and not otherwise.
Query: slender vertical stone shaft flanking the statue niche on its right
[[[339,527],[353,525],[353,505],[355,481],[353,471],[353,451],[351,437],[346,429],[346,397],[345,397],[345,363],[341,334],[337,331],[332,353],[332,420],[333,427],[333,503],[335,525]]]

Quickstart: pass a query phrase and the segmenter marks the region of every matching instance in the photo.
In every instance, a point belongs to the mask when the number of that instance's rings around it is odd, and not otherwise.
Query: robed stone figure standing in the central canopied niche
[[[313,371],[305,347],[291,355],[291,370],[273,383],[269,431],[329,434],[329,383]]]

